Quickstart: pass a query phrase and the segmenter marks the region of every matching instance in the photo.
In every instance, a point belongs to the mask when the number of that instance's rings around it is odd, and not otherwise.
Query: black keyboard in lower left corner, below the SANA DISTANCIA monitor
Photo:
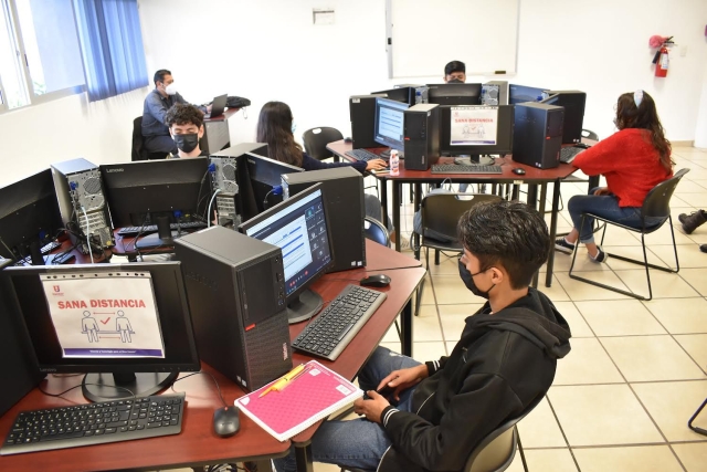
[[[184,394],[21,411],[0,455],[179,434]]]

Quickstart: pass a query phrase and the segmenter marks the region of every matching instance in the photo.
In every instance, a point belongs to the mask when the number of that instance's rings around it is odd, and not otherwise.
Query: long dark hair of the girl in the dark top
[[[302,167],[302,146],[292,135],[292,111],[286,103],[267,102],[257,118],[258,143],[267,143],[271,159]]]

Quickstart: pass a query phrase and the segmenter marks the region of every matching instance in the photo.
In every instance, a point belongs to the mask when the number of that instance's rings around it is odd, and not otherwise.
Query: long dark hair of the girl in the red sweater
[[[619,129],[647,129],[651,134],[651,144],[661,156],[661,165],[667,171],[673,168],[675,162],[671,158],[671,141],[665,139],[665,132],[651,95],[643,92],[643,99],[641,99],[639,106],[636,106],[633,92],[621,95],[616,103],[616,119],[614,119],[614,123]]]

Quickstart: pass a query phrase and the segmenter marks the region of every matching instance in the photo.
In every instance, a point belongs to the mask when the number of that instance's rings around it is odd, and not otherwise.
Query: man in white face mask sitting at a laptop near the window
[[[188,102],[177,92],[172,73],[160,69],[152,78],[155,90],[145,97],[143,106],[143,145],[148,153],[177,154],[177,146],[170,136],[165,115],[176,103]],[[207,113],[211,106],[204,107]]]

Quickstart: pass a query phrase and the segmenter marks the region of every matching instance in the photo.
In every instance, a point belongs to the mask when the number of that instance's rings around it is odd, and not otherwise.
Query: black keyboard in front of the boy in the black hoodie
[[[382,292],[347,285],[297,336],[292,347],[336,360],[386,296]]]

